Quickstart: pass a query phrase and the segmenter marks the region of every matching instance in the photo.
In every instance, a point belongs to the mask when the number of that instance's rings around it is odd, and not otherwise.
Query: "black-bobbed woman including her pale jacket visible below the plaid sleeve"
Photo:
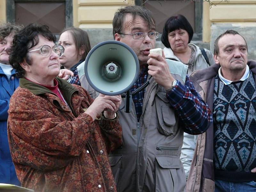
[[[207,68],[215,63],[212,52],[207,49],[200,49],[197,45],[190,43],[193,34],[193,28],[186,17],[176,15],[165,22],[161,37],[165,46],[165,58],[181,61],[188,65],[188,75],[195,70]],[[186,178],[188,178],[195,146],[196,136],[184,133],[180,160],[183,163]]]

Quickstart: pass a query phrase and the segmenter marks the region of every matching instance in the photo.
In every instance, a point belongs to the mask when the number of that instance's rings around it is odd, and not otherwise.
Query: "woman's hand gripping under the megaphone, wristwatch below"
[[[94,120],[102,111],[109,109],[111,112],[107,116],[113,118],[121,102],[121,95],[109,96],[100,94],[84,113],[90,115]]]

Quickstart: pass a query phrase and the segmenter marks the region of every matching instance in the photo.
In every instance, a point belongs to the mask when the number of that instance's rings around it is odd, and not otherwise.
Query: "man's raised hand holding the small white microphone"
[[[148,74],[153,76],[156,82],[163,86],[164,89],[172,87],[172,82],[175,80],[170,71],[167,62],[165,61],[164,51],[162,50],[163,57],[157,53],[148,55]]]

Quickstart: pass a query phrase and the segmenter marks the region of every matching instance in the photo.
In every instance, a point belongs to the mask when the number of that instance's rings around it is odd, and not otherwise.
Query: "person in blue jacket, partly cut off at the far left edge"
[[[0,26],[0,183],[20,185],[16,176],[7,138],[7,118],[10,98],[19,86],[19,78],[9,62],[14,34],[22,27],[4,23]]]

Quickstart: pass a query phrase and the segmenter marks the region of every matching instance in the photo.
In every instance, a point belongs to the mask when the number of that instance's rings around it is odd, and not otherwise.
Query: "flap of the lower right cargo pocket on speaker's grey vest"
[[[178,169],[180,168],[180,158],[178,157],[168,157],[168,156],[156,156],[156,161],[162,168],[166,169]]]

